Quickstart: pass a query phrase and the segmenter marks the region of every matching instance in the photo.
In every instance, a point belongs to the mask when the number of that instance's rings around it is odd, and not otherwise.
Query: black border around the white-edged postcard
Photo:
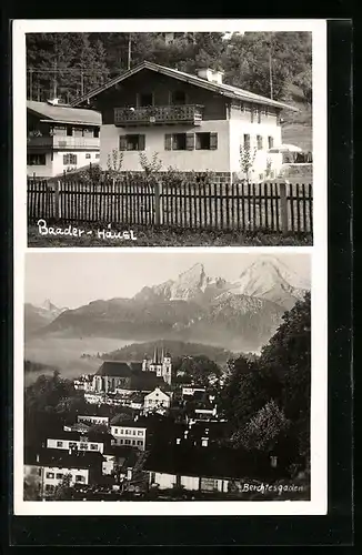
[[[154,14],[153,14],[154,17]],[[190,16],[189,16],[190,17]],[[214,16],[215,17],[215,16]],[[261,17],[261,16],[259,16]],[[8,21],[9,23],[9,21]],[[9,29],[3,29],[6,36]],[[11,37],[11,32],[10,32]],[[7,46],[10,44],[10,39]],[[11,60],[6,46],[4,65],[9,81],[2,81],[2,107],[11,113]],[[353,545],[352,513],[352,21],[328,23],[329,72],[329,514],[326,516],[218,516],[164,517],[26,517],[10,514],[8,541],[11,546],[241,546],[241,545]],[[11,93],[10,93],[11,99]],[[1,112],[7,122],[6,112]],[[11,130],[7,137],[11,142]],[[9,147],[9,145],[8,145]],[[6,151],[8,178],[11,160]],[[9,180],[10,182],[10,180]],[[4,309],[2,334],[2,391],[12,402],[12,190],[4,194],[4,225],[8,275],[1,287]],[[1,278],[4,278],[2,274]],[[4,370],[9,369],[9,372]],[[4,375],[6,374],[6,375]],[[1,420],[6,447],[11,450],[12,411],[2,403]],[[11,451],[10,451],[11,454]],[[3,483],[12,475],[12,457],[4,455]],[[11,480],[8,485],[12,497]],[[12,500],[3,497],[4,516]]]

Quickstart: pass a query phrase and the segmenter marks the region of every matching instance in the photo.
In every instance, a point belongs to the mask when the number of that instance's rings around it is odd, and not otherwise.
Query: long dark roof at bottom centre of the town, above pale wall
[[[274,476],[268,456],[227,447],[194,447],[185,444],[153,448],[144,470],[172,475],[209,478],[262,478]]]

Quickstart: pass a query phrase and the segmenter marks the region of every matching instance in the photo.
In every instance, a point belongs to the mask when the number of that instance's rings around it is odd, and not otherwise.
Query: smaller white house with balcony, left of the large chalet
[[[101,114],[56,101],[27,101],[27,173],[53,178],[99,164]]]

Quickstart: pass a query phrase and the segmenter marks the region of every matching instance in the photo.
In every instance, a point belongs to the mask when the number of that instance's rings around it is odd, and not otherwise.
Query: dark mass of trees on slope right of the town
[[[229,362],[220,406],[232,424],[231,443],[279,453],[309,468],[311,403],[311,300],[283,316],[259,360]]]

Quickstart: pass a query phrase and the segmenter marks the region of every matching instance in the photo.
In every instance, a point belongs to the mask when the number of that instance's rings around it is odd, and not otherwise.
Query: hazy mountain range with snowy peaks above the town
[[[175,280],[144,286],[131,299],[97,300],[74,310],[26,305],[26,333],[64,337],[160,339],[258,351],[309,290],[275,258],[261,256],[235,282],[194,264]]]

